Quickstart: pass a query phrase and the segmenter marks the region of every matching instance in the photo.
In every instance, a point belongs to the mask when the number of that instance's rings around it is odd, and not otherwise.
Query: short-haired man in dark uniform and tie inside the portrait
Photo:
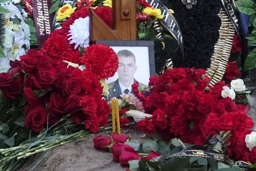
[[[134,74],[137,71],[136,58],[133,52],[130,50],[119,50],[117,53],[119,64],[118,64],[118,79],[112,83],[108,84],[109,87],[109,97],[120,98],[123,93],[130,94],[133,93],[131,85],[137,82],[134,78]],[[139,83],[139,86],[146,86]]]

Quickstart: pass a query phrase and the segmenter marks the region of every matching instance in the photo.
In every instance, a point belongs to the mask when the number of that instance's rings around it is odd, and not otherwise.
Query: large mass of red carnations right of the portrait
[[[236,160],[256,162],[256,147],[249,150],[245,137],[254,122],[245,114],[245,105],[237,105],[221,96],[225,82],[209,87],[203,69],[177,68],[152,77],[150,95],[137,95],[143,100],[146,113],[138,128],[147,134],[158,131],[164,139],[179,137],[183,142],[203,145],[209,134],[231,131],[228,155]],[[137,89],[137,86],[134,86]]]

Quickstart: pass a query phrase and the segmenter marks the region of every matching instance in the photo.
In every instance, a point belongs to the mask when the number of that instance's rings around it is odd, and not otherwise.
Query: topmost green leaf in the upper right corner
[[[239,0],[235,3],[238,11],[242,12],[243,14],[253,15],[256,12],[255,2],[251,0]]]

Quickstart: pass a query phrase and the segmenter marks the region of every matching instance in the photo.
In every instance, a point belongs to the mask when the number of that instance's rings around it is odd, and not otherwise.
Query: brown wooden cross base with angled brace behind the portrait
[[[136,0],[112,0],[114,29],[91,10],[90,40],[137,40]]]

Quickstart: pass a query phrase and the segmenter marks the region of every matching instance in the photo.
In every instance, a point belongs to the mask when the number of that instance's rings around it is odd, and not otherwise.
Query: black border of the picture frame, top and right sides
[[[148,62],[150,67],[150,77],[155,73],[155,52],[154,41],[144,40],[96,40],[98,44],[105,44],[108,46],[136,46],[136,47],[148,47]]]

